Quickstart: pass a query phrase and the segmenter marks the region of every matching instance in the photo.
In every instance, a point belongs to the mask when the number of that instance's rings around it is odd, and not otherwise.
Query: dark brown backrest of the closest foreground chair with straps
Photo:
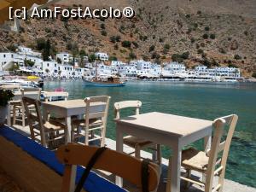
[[[87,166],[91,156],[95,154],[97,147],[82,146],[78,144],[67,144],[57,149],[56,156],[61,163],[65,164],[65,172],[62,182],[61,192],[70,192],[73,189],[71,183],[75,179],[72,175],[72,166]],[[128,154],[119,153],[107,149],[99,160],[96,161],[95,169],[112,172],[113,174],[125,178],[125,180],[142,188],[142,160],[138,160]],[[148,189],[154,191],[157,189],[160,175],[157,172],[157,165],[149,163],[148,165]]]

